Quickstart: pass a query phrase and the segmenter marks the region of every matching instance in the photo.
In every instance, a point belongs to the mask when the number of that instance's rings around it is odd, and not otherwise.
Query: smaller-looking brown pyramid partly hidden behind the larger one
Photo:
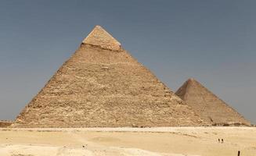
[[[208,124],[222,125],[226,123],[241,123],[250,125],[236,110],[227,105],[215,94],[207,90],[197,80],[189,79],[175,93],[186,101]]]

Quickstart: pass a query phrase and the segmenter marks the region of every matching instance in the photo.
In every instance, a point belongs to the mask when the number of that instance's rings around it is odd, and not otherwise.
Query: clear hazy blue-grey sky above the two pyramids
[[[101,25],[171,90],[194,77],[256,123],[255,8],[254,0],[2,0],[0,119],[15,119]]]

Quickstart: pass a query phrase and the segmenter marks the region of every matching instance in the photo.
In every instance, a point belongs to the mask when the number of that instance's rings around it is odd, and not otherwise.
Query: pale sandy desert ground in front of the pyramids
[[[1,156],[236,156],[237,151],[256,156],[256,128],[0,129]]]

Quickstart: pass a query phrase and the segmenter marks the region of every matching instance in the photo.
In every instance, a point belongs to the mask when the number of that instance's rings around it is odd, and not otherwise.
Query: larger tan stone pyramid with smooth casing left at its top
[[[13,127],[198,126],[202,120],[102,27],[17,116]]]

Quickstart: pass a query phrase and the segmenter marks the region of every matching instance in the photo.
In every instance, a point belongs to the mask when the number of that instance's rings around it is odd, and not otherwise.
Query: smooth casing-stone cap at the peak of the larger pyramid
[[[82,41],[82,44],[91,44],[113,51],[121,49],[121,44],[99,25],[93,28],[91,33]]]

